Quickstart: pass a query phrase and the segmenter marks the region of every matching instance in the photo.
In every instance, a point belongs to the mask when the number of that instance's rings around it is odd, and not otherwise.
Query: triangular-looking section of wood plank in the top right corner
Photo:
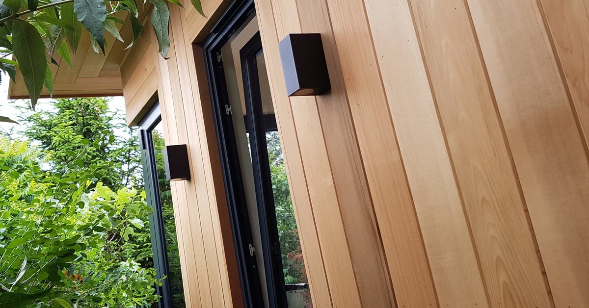
[[[589,2],[585,0],[541,0],[556,49],[557,60],[573,100],[573,108],[589,145]]]

